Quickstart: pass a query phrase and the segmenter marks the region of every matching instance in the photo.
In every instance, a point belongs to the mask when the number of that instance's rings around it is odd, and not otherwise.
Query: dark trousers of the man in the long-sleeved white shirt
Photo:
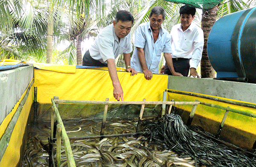
[[[190,61],[190,59],[179,58],[178,60],[176,60],[176,58],[173,58],[172,63],[173,63],[175,72],[179,72],[184,77],[187,77],[189,75],[189,68],[190,68],[189,61]],[[163,73],[172,75],[172,72],[170,71],[169,67],[167,66],[167,63],[166,63],[166,66],[164,67]]]

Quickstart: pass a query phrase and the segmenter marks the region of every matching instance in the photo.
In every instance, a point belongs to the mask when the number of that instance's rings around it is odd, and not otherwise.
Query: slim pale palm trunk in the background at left
[[[47,46],[46,46],[46,63],[52,61],[52,33],[53,33],[53,11],[49,11],[49,19],[47,26]]]

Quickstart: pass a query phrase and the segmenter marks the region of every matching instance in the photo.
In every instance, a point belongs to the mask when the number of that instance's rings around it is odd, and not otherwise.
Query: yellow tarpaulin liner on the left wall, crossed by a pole
[[[27,91],[27,89],[26,89],[26,91]],[[6,118],[3,120],[3,122],[0,126],[0,136],[1,137],[2,137],[3,133],[5,132],[13,115],[15,114],[17,107],[20,104],[20,101],[25,96],[26,91],[23,93],[20,100],[17,102],[17,104],[12,109],[12,111],[9,113],[9,115],[7,115]],[[23,135],[25,132],[29,112],[32,107],[32,102],[33,102],[33,89],[30,89],[29,96],[26,99],[26,103],[23,105],[23,109],[20,112],[20,116],[17,120],[17,123],[15,124],[8,147],[6,148],[3,158],[0,161],[0,167],[16,167],[20,161],[20,148],[23,144],[22,139],[23,139]]]

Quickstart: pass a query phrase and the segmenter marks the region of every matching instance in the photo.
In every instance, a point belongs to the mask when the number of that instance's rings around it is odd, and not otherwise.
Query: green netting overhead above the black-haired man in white
[[[183,3],[199,9],[208,10],[218,5],[222,0],[166,0],[173,3]]]

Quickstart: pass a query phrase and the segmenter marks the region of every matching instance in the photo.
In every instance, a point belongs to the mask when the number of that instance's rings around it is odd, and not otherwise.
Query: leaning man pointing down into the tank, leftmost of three
[[[131,12],[120,10],[116,13],[113,24],[105,27],[96,37],[93,45],[83,57],[83,66],[108,67],[108,72],[113,83],[113,96],[116,100],[123,101],[123,90],[119,82],[115,59],[119,54],[124,55],[126,71],[131,75],[137,74],[137,71],[131,68],[131,26],[134,17]]]

